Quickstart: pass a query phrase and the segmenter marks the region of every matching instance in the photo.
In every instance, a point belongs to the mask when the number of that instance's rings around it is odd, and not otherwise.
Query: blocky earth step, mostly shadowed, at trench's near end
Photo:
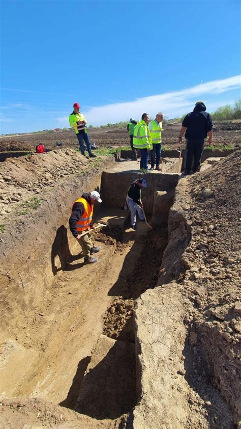
[[[114,419],[135,406],[135,346],[100,335],[80,387],[75,411]]]

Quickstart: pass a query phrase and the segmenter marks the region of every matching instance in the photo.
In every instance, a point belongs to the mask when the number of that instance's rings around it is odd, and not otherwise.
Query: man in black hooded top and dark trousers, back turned
[[[213,141],[212,117],[206,112],[203,100],[197,101],[193,112],[185,116],[178,137],[179,145],[182,143],[184,133],[187,139],[187,159],[184,174],[190,174],[191,170],[193,173],[196,173],[201,164],[204,139],[208,135],[207,143],[211,144]]]

